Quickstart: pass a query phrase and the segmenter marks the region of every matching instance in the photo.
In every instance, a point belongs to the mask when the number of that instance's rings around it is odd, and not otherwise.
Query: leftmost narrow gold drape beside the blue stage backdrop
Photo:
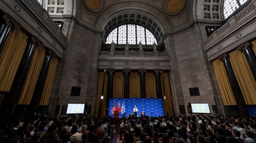
[[[97,86],[97,93],[96,93],[96,102],[95,102],[95,115],[98,116],[99,105],[101,103],[101,96],[102,96],[102,88],[104,82],[104,71],[98,72],[98,86]],[[103,98],[104,99],[104,98]]]

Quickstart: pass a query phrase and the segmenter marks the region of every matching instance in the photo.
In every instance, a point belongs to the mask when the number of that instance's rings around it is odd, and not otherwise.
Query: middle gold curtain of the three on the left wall
[[[29,105],[36,88],[37,79],[39,77],[45,55],[46,50],[42,46],[36,48],[18,104]]]

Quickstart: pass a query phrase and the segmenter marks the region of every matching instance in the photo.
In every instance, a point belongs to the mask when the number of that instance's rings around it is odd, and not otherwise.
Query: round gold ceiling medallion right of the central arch
[[[164,6],[167,14],[177,15],[183,10],[185,6],[185,0],[165,0]]]

